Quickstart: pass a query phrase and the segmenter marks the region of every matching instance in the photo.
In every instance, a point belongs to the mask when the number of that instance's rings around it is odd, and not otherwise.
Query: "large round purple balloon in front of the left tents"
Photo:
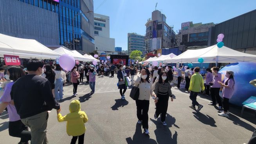
[[[59,57],[59,65],[64,69],[64,70],[72,70],[76,64],[76,61],[73,56],[70,54],[63,54]]]

